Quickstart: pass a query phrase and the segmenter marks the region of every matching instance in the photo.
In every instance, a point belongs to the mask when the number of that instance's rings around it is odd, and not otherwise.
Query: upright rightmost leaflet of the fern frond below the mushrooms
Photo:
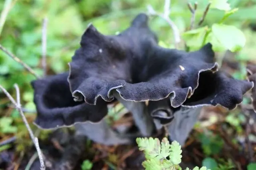
[[[170,153],[170,161],[174,164],[174,165],[178,165],[181,162],[181,158],[182,158],[182,150],[181,150],[181,146],[180,144],[174,140],[171,144],[171,153]]]

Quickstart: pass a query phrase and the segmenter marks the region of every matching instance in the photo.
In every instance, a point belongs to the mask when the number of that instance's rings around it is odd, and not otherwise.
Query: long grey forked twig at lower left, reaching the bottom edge
[[[21,109],[21,105],[20,105],[20,89],[18,87],[17,84],[14,84],[14,87],[16,89],[16,95],[17,95],[17,102],[12,98],[12,96],[10,95],[10,93],[8,93],[8,91],[6,91],[6,89],[4,89],[4,87],[2,87],[0,85],[0,89],[2,89],[2,91],[4,92],[4,94],[10,99],[10,101],[15,105],[16,109],[18,110],[18,112],[20,113],[20,116],[22,117],[23,122],[26,125],[26,128],[28,129],[28,132],[30,134],[30,138],[32,139],[32,141],[34,142],[34,145],[36,147],[36,151],[38,152],[38,156],[40,159],[40,169],[41,170],[45,170],[45,166],[44,166],[44,160],[42,158],[42,152],[40,150],[39,144],[38,144],[38,138],[36,138],[30,128],[30,126],[28,125],[28,121]]]

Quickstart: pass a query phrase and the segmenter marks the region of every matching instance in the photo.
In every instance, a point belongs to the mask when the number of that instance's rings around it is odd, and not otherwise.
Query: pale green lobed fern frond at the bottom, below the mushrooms
[[[146,160],[142,166],[146,170],[181,170],[181,146],[177,141],[169,143],[167,138],[136,138],[139,150],[143,151]],[[186,168],[189,170],[189,168]],[[206,167],[195,167],[193,170],[207,170]]]

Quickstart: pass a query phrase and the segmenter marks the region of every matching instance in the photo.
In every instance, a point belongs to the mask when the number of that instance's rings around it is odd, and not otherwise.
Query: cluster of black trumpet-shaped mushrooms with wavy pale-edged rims
[[[69,66],[69,75],[32,82],[41,128],[99,122],[117,99],[133,113],[142,135],[166,125],[170,138],[183,144],[202,106],[235,109],[253,87],[218,71],[210,43],[193,52],[160,47],[146,14],[116,36],[90,24]]]

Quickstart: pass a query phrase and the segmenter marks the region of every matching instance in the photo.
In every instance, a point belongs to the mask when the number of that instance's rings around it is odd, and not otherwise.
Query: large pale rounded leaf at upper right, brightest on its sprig
[[[213,24],[212,33],[218,42],[232,52],[240,51],[246,42],[243,32],[235,26]]]

